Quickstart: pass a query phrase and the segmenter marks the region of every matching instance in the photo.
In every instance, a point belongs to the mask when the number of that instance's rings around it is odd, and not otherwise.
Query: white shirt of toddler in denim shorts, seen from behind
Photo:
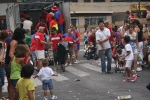
[[[53,70],[49,67],[42,67],[37,74],[37,76],[40,76],[42,80],[50,80],[52,79],[52,75],[54,74]]]

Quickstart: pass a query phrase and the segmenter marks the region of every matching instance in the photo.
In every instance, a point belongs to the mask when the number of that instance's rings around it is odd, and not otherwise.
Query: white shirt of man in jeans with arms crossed
[[[97,32],[96,32],[96,41],[98,42],[98,40],[104,40],[105,38],[107,38],[107,37],[110,36],[110,35],[111,35],[111,34],[110,34],[110,30],[109,30],[108,28],[104,28],[103,31],[101,31],[101,30],[99,29],[99,30],[97,30]],[[104,46],[105,46],[106,49],[111,48],[110,43],[109,43],[109,40],[103,42],[103,44],[104,44]],[[97,44],[97,47],[98,47],[98,50],[102,50],[102,47],[101,47],[101,45],[99,44],[99,42],[98,42],[98,44]]]

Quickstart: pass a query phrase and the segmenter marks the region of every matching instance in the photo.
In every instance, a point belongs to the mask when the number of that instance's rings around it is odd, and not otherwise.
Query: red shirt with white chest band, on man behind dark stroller
[[[50,40],[53,43],[52,44],[52,49],[56,50],[57,49],[57,44],[62,41],[62,36],[61,36],[61,34],[51,35]]]

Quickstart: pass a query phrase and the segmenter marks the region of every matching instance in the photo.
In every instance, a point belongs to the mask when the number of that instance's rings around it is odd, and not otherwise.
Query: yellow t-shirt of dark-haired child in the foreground
[[[19,79],[16,88],[19,91],[20,100],[29,100],[28,91],[33,90],[34,92],[35,90],[34,82],[30,79],[23,79],[23,78]],[[33,93],[33,95],[35,97],[35,92]]]

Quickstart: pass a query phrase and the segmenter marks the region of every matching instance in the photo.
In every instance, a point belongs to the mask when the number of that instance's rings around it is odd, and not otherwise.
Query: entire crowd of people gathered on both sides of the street
[[[35,31],[31,31],[33,22],[27,13],[21,13],[22,28],[0,31],[0,99],[4,85],[5,72],[8,81],[9,100],[35,100],[34,82],[30,80],[34,69],[41,76],[44,100],[47,100],[47,87],[52,95],[51,99],[57,99],[53,92],[52,76],[58,76],[48,67],[48,59],[45,59],[45,49],[51,48],[54,58],[54,66],[58,66],[57,44],[64,41],[69,42],[68,54],[70,60],[66,59],[65,66],[72,66],[73,55],[79,63],[80,56],[80,33],[76,26],[70,25],[66,33],[63,32],[64,19],[59,6],[55,4],[50,13],[42,10],[40,22]],[[147,4],[147,20],[150,20],[150,4]],[[115,66],[122,66],[123,74],[127,74],[126,81],[134,82],[140,77],[137,72],[142,71],[143,47],[149,37],[144,38],[149,30],[146,25],[140,24],[139,15],[131,16],[126,12],[125,25],[111,27],[109,22],[100,20],[98,27],[87,28],[84,33],[84,48],[95,47],[98,51],[98,61],[101,65],[102,74],[112,74],[112,58]],[[48,24],[47,24],[48,22]],[[147,24],[149,26],[149,24]],[[64,34],[63,34],[64,33]],[[50,35],[49,35],[50,34]],[[150,50],[148,50],[147,62],[150,61]],[[107,65],[105,59],[107,57]],[[33,62],[33,63],[32,63]],[[130,77],[132,75],[132,77]]]

